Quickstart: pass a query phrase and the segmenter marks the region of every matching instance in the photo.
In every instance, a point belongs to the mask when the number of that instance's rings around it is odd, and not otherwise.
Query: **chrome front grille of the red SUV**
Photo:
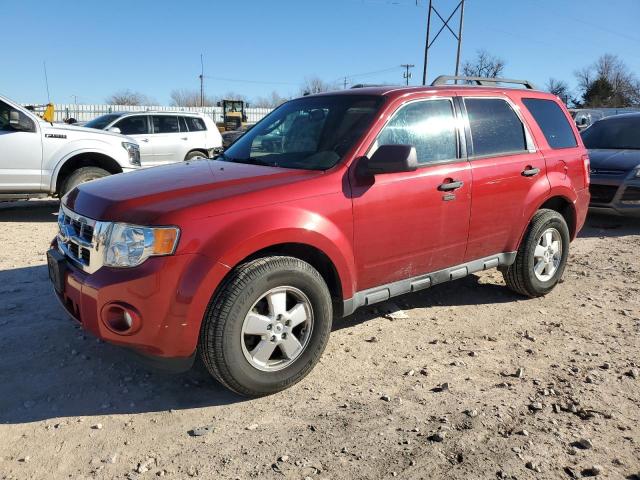
[[[60,205],[58,213],[58,250],[71,262],[87,273],[93,273],[102,266],[101,242],[107,223],[78,215]]]

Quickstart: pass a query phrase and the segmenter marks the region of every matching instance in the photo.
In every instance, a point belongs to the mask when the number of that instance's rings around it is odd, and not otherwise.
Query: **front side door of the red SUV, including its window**
[[[357,166],[351,169],[358,290],[463,262],[471,167],[462,158],[458,124],[451,98],[406,103],[382,128],[368,157],[381,145],[411,145],[418,169],[368,179],[358,177]]]

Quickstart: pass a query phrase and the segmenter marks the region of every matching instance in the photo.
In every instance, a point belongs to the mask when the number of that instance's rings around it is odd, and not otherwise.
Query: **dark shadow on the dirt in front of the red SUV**
[[[0,423],[225,405],[243,399],[200,364],[153,372],[81,330],[45,266],[0,271]]]

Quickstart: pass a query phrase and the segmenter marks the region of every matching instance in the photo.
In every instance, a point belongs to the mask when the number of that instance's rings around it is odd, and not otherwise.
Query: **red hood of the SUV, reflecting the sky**
[[[322,175],[321,171],[293,170],[219,160],[192,160],[113,175],[80,185],[64,204],[80,215],[102,221],[139,225],[228,213],[282,201],[277,187]],[[271,195],[239,197],[267,188]],[[285,189],[286,190],[286,189]],[[214,204],[211,206],[211,204]]]

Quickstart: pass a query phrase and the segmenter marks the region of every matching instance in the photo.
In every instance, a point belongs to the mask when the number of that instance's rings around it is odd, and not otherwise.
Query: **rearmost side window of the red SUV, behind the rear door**
[[[577,147],[576,137],[564,112],[553,100],[524,98],[522,103],[533,115],[551,148]]]

